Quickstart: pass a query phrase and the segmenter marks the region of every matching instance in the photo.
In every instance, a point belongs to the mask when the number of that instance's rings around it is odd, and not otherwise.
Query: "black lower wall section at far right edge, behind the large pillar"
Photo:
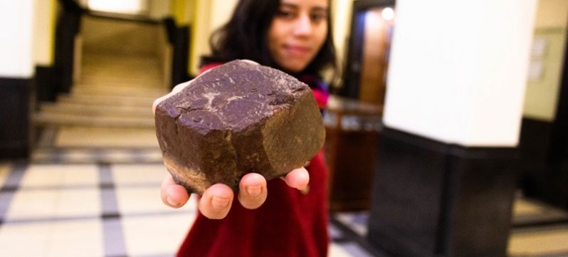
[[[550,122],[523,119],[520,149],[525,195],[568,210],[568,51],[564,51],[556,116]]]

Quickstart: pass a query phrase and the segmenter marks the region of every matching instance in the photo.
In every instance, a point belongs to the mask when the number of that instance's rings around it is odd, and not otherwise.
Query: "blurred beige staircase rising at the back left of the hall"
[[[157,60],[85,53],[83,61],[80,83],[56,103],[43,103],[36,125],[154,127],[152,102],[167,93]]]

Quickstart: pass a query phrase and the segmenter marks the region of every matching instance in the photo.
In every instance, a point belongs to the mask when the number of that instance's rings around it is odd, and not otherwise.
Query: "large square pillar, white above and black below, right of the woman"
[[[369,241],[506,256],[535,0],[396,1]]]

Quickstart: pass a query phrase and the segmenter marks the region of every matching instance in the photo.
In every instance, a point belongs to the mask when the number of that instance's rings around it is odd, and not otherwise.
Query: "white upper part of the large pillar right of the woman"
[[[535,0],[399,0],[384,124],[471,147],[517,145]]]

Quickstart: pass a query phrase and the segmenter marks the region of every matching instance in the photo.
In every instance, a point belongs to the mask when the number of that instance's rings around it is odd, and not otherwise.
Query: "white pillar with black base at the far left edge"
[[[33,4],[0,1],[0,159],[27,157],[31,148]]]

